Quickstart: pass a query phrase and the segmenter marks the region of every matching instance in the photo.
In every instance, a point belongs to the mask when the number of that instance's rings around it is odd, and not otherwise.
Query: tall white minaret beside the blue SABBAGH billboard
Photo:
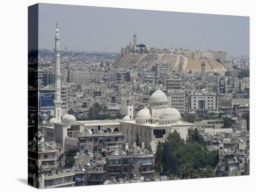
[[[60,56],[60,36],[59,36],[59,29],[58,29],[58,23],[56,23],[56,35],[55,35],[55,47],[54,47],[54,53],[55,53],[55,71],[54,71],[54,77],[55,77],[55,94],[54,94],[54,117],[59,122],[61,122],[61,106],[62,106],[62,100],[61,100],[61,56]]]

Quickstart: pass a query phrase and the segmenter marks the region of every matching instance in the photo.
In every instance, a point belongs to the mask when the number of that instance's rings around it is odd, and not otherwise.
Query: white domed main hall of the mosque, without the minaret
[[[163,142],[170,132],[179,132],[186,140],[188,130],[196,127],[196,124],[182,121],[177,109],[168,107],[167,96],[161,90],[150,96],[148,106],[141,109],[134,120],[125,116],[120,124],[126,143],[135,145],[138,134],[142,147],[154,153],[158,142]]]

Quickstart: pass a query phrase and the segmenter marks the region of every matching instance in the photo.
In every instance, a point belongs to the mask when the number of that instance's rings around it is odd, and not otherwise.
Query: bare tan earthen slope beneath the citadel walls
[[[180,72],[201,71],[202,60],[193,60],[183,55],[175,54],[135,54],[127,53],[115,60],[113,66],[118,68],[130,68],[132,66],[148,66],[151,68],[156,63],[167,63],[171,68]],[[225,73],[227,69],[215,60],[204,60],[206,72]]]

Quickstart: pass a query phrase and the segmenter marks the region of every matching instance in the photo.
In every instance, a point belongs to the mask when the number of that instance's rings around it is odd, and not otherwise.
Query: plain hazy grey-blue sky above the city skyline
[[[105,7],[39,5],[39,48],[121,52],[132,42],[155,48],[214,49],[249,55],[249,17]]]

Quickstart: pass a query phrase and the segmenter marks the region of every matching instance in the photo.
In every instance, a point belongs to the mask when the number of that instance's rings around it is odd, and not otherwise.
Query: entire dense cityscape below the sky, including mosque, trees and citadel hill
[[[121,54],[63,52],[55,33],[54,53],[39,50],[30,185],[249,174],[248,57],[154,48],[136,34]]]

